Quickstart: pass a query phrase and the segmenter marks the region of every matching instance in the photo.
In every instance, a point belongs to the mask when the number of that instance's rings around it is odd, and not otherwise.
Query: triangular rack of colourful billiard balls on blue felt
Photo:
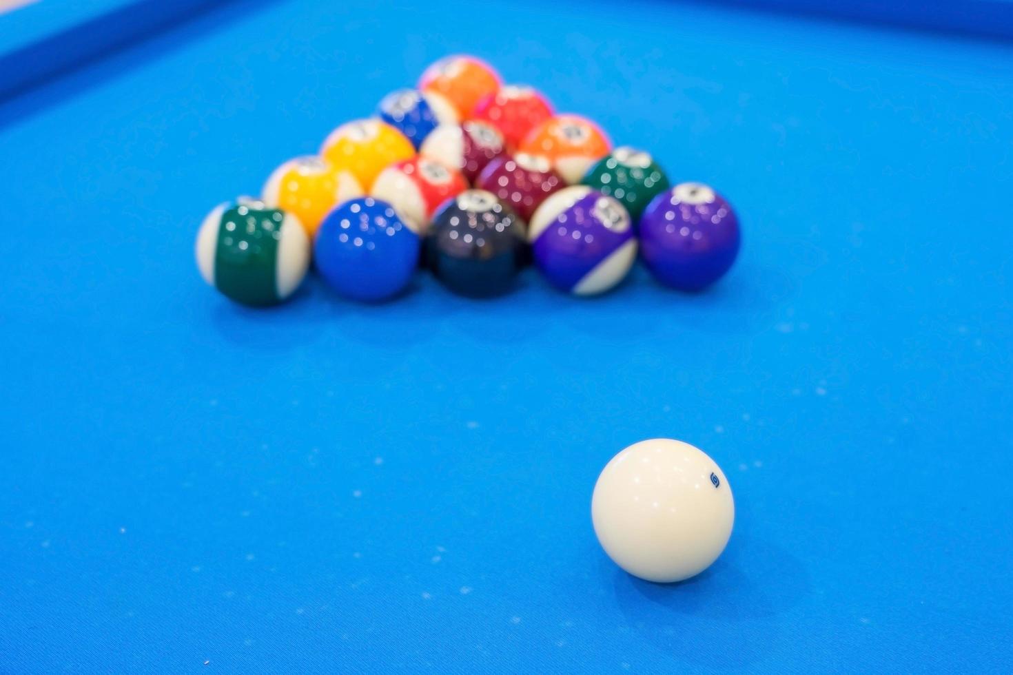
[[[443,59],[375,117],[280,166],[258,198],[220,204],[197,238],[204,278],[253,306],[280,303],[311,258],[349,299],[394,298],[419,267],[470,297],[508,292],[529,262],[554,286],[605,292],[639,249],[665,284],[713,283],[738,252],[728,202],[672,185],[647,153],[612,148],[590,119],[556,114],[482,61]]]

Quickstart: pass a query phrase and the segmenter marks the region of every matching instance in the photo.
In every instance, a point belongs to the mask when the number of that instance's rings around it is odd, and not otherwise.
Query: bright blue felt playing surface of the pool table
[[[717,186],[730,275],[203,284],[207,210],[457,51]],[[670,3],[239,3],[0,107],[0,671],[1008,672],[1011,57]],[[657,435],[737,505],[675,587],[589,515]]]

